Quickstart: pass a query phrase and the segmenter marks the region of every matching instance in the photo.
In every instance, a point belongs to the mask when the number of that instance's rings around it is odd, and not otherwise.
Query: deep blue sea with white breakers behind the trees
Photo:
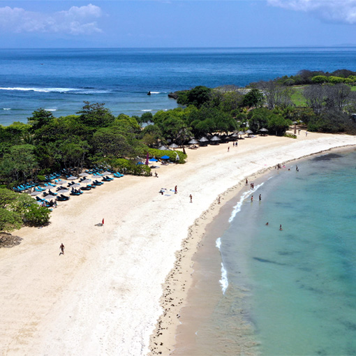
[[[27,122],[39,107],[74,114],[83,101],[154,113],[177,107],[170,91],[340,68],[356,71],[356,47],[0,49],[0,124]]]

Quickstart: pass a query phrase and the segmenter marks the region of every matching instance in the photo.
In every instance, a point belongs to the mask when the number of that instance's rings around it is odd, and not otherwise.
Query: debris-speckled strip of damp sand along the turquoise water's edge
[[[281,162],[281,164],[287,165],[288,163],[301,161],[305,158],[324,154],[329,151],[347,151],[348,149],[353,149],[353,147],[355,147],[355,144],[332,147],[297,158],[292,158],[288,161]],[[274,166],[263,168],[262,170],[253,172],[246,178],[249,179],[249,182],[255,179],[262,179],[262,177],[267,176],[273,170]],[[177,343],[182,343],[182,341],[177,341],[177,331],[179,325],[181,325],[179,318],[181,317],[181,310],[188,306],[187,299],[189,292],[192,290],[194,284],[197,283],[197,280],[193,275],[195,273],[194,256],[196,253],[199,253],[200,244],[206,238],[206,235],[209,235],[209,231],[207,230],[209,225],[214,223],[214,219],[220,214],[221,209],[228,205],[232,205],[232,200],[242,194],[244,187],[246,187],[246,185],[244,179],[242,179],[235,186],[228,188],[227,191],[224,191],[219,195],[221,196],[221,204],[218,204],[218,197],[216,197],[216,201],[214,201],[209,208],[194,221],[194,224],[189,227],[188,236],[183,240],[181,249],[175,253],[175,265],[170,270],[170,273],[162,286],[163,295],[160,299],[160,303],[163,309],[163,314],[158,319],[154,333],[150,337],[149,356],[175,355],[175,346],[177,346]],[[229,224],[228,221],[223,222],[223,227],[219,230],[226,230]],[[184,339],[184,336],[182,336],[182,339]],[[254,345],[249,345],[250,348],[253,346]],[[249,353],[249,355],[254,354]]]

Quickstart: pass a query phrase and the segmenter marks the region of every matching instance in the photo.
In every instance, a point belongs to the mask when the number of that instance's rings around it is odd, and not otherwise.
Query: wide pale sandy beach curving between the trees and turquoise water
[[[15,231],[22,243],[0,249],[0,355],[138,356],[150,342],[152,354],[169,355],[191,256],[245,177],[355,144],[302,131],[187,149],[187,163],[161,166],[158,178],[127,176],[60,202],[50,225]]]

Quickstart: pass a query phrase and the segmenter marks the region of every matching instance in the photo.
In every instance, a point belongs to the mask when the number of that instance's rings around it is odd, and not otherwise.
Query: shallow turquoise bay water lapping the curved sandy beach
[[[174,355],[356,355],[355,174],[356,150],[333,151],[246,186],[203,242],[215,251],[195,257],[209,278],[181,313]]]

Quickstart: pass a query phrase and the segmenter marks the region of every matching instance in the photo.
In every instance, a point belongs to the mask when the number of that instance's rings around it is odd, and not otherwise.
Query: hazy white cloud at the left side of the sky
[[[102,32],[96,21],[103,11],[91,3],[72,6],[53,14],[27,11],[23,8],[0,8],[0,29],[6,32],[43,32],[61,34],[93,34]]]

